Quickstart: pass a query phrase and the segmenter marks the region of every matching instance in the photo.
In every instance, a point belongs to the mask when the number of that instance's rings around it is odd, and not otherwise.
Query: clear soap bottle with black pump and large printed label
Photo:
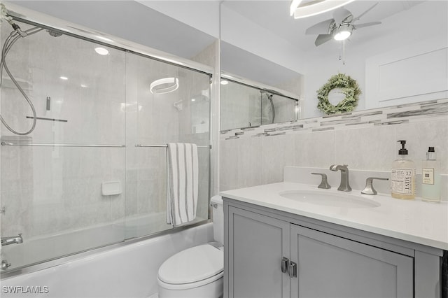
[[[406,141],[401,143],[398,159],[392,163],[391,194],[396,199],[414,199],[415,197],[415,164],[407,159]]]

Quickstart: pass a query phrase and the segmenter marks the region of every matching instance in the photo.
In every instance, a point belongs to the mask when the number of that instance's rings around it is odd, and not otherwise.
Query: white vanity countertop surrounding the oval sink
[[[346,194],[376,201],[380,206],[341,208],[310,204],[281,197],[279,192],[311,190]],[[223,197],[323,220],[396,239],[448,250],[448,202],[428,203],[420,198],[393,199],[390,195],[361,194],[360,190],[320,190],[316,185],[281,182],[219,193]]]

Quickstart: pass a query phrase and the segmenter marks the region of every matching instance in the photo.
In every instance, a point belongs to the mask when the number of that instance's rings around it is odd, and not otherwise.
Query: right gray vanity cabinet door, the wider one
[[[291,297],[414,297],[413,258],[291,225]]]

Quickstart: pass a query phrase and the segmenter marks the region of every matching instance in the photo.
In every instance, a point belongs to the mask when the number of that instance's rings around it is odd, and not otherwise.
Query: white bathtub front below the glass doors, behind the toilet
[[[209,241],[213,241],[210,223],[4,278],[0,296],[150,297],[157,292],[156,277],[162,262],[180,250]],[[30,291],[37,293],[31,295]]]

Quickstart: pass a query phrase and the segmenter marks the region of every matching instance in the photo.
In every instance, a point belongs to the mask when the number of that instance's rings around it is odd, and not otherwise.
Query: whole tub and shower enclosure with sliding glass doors
[[[214,70],[4,3],[1,297],[154,295],[167,257],[213,239]],[[166,221],[167,143],[199,148],[183,227]]]

